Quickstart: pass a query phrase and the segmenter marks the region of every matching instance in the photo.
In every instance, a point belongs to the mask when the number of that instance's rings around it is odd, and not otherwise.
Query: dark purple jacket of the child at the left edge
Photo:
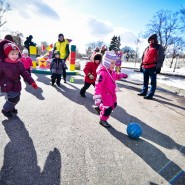
[[[0,88],[2,92],[20,92],[22,89],[20,76],[22,76],[29,85],[35,82],[24,68],[22,62],[0,62]]]

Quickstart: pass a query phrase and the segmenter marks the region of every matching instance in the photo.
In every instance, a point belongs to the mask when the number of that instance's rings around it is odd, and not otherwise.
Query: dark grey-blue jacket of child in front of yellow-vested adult
[[[64,60],[60,58],[52,59],[51,64],[50,64],[50,70],[52,73],[62,74],[64,67],[65,67]]]

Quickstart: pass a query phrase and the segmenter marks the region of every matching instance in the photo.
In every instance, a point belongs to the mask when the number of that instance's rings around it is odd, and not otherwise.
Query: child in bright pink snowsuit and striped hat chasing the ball
[[[100,115],[100,124],[104,127],[110,127],[107,122],[112,110],[117,105],[116,80],[127,78],[127,74],[114,71],[117,55],[113,51],[106,51],[103,57],[102,65],[97,68],[97,79],[93,99],[95,101],[96,111]]]

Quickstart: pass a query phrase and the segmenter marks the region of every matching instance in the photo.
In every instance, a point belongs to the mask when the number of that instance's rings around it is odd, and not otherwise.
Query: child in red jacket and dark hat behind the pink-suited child
[[[101,53],[96,53],[93,57],[93,61],[87,62],[87,64],[84,67],[84,73],[85,73],[85,78],[84,78],[84,86],[80,90],[80,95],[85,98],[85,92],[86,90],[91,86],[95,85],[96,81],[96,69],[99,66],[99,64],[102,61],[102,55]]]

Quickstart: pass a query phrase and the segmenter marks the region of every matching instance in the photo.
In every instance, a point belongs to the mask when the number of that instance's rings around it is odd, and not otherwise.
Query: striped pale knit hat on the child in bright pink
[[[103,56],[103,61],[102,64],[109,69],[110,68],[110,64],[112,61],[116,62],[117,60],[117,55],[114,51],[106,51],[104,56]]]

